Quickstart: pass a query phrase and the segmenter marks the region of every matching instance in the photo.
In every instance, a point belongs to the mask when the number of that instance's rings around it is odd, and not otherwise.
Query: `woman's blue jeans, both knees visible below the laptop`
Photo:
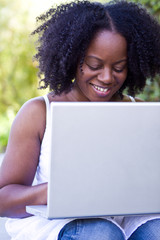
[[[58,240],[125,240],[125,237],[114,223],[92,218],[77,219],[66,224]],[[128,240],[160,240],[160,219],[143,224]]]

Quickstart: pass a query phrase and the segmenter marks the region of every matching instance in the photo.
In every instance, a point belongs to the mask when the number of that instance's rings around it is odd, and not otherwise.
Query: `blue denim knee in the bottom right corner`
[[[141,225],[129,240],[160,240],[160,219],[154,219]]]

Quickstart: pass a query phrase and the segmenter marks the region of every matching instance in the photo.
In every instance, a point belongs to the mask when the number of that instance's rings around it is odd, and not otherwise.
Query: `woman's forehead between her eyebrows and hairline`
[[[91,41],[86,56],[96,56],[100,59],[121,59],[127,56],[127,42],[116,32],[103,30],[98,32]]]

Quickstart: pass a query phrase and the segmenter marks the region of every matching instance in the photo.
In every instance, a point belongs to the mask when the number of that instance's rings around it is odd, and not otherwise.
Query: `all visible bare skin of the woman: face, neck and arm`
[[[127,43],[116,32],[103,31],[92,40],[75,85],[49,101],[131,101],[118,90],[127,76]],[[136,101],[141,101],[136,99]],[[46,126],[43,97],[28,101],[17,114],[0,169],[0,216],[27,217],[26,205],[47,204],[47,183],[32,186]]]

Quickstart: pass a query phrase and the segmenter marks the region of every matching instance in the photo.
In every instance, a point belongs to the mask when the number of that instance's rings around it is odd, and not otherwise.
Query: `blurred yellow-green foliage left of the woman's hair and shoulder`
[[[11,123],[20,106],[38,95],[35,53],[28,10],[21,0],[0,1],[0,152],[6,147]]]

